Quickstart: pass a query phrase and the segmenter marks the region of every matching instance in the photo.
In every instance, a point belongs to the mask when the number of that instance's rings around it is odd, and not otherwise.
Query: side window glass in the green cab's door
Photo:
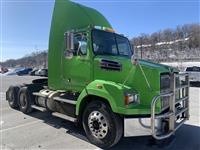
[[[74,56],[87,54],[87,34],[77,33],[74,35]]]

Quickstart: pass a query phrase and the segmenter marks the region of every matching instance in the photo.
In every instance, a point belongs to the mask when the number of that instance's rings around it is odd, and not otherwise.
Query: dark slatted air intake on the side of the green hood
[[[101,69],[112,70],[112,71],[121,71],[122,70],[122,65],[119,62],[105,60],[105,59],[102,59],[100,61],[100,67],[101,67]]]

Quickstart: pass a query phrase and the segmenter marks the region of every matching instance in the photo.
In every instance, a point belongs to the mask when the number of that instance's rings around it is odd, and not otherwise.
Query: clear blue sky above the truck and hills
[[[100,11],[129,38],[177,25],[199,23],[198,0],[77,0]],[[48,49],[53,0],[1,0],[3,61]]]

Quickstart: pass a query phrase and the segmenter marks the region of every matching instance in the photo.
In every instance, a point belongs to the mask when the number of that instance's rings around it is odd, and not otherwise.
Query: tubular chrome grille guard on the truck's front
[[[184,82],[177,85],[176,79],[183,78]],[[189,119],[189,76],[187,73],[172,74],[170,76],[171,92],[157,95],[151,102],[151,132],[152,136],[157,140],[170,137],[175,131]],[[179,97],[176,98],[176,94]],[[163,97],[169,98],[169,107],[167,112],[156,114],[156,103]],[[176,108],[177,104],[182,104],[181,108]],[[178,118],[178,119],[177,119]],[[156,120],[167,120],[168,131],[160,132],[156,127]],[[162,121],[161,121],[162,123]]]

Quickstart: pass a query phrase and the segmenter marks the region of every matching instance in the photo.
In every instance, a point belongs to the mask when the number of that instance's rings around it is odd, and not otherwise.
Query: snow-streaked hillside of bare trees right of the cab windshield
[[[154,61],[200,60],[200,25],[186,24],[131,39],[136,55]]]

